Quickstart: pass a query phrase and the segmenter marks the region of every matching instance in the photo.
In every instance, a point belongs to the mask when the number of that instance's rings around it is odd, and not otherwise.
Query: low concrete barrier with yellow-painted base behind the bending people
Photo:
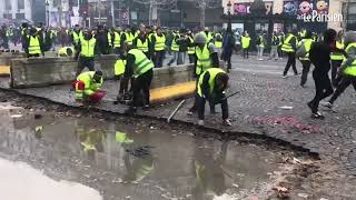
[[[103,72],[105,79],[115,78],[116,59],[113,54],[96,59],[96,69]],[[76,78],[76,70],[77,61],[72,58],[13,59],[10,87],[26,89],[70,83]],[[191,94],[195,90],[192,73],[192,64],[155,69],[151,99],[157,102]]]

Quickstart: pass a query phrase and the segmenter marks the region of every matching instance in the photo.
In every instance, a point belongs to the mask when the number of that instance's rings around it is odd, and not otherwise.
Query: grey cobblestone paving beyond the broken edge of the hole
[[[336,101],[337,113],[323,110],[325,120],[310,119],[310,110],[306,102],[314,97],[314,82],[309,77],[307,88],[299,87],[299,77],[281,78],[285,60],[256,61],[233,59],[230,72],[230,89],[228,93],[240,91],[229,99],[233,128],[220,126],[220,114],[207,114],[206,127],[229,132],[248,132],[265,134],[303,147],[310,152],[338,161],[350,173],[356,174],[356,109],[354,89],[347,89]],[[298,68],[299,71],[300,67]],[[4,88],[7,80],[1,81]],[[108,91],[107,101],[98,109],[122,113],[125,106],[113,106],[117,94],[117,83],[107,81],[103,89]],[[20,93],[42,97],[51,101],[76,106],[70,86],[53,86],[18,90]],[[149,111],[139,111],[146,117],[168,118],[179,102],[157,106]],[[187,103],[175,117],[175,120],[195,123],[195,117],[187,117],[186,111],[192,106]],[[290,110],[280,107],[293,107]],[[218,108],[218,107],[217,107]],[[218,108],[219,111],[219,108]],[[220,112],[220,111],[219,111]]]

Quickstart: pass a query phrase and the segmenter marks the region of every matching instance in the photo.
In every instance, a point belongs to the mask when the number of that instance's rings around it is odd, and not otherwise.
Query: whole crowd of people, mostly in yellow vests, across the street
[[[249,33],[244,31],[238,37],[231,29],[210,31],[208,28],[189,30],[170,30],[160,27],[117,27],[108,29],[98,26],[96,29],[80,28],[53,29],[42,24],[29,27],[23,23],[20,29],[2,27],[0,31],[2,47],[9,48],[9,41],[21,43],[27,57],[44,56],[46,51],[58,50],[59,57],[73,57],[78,60],[77,80],[73,81],[76,99],[85,101],[100,101],[105,92],[100,90],[102,72],[95,68],[96,56],[115,53],[118,60],[115,64],[115,74],[120,82],[118,101],[131,97],[128,113],[137,111],[137,107],[149,108],[149,88],[154,77],[154,68],[161,68],[164,59],[167,66],[184,64],[187,61],[195,64],[197,92],[195,103],[188,114],[198,112],[199,124],[204,123],[204,108],[209,101],[210,112],[215,112],[215,104],[220,103],[224,124],[230,124],[227,99],[224,90],[228,84],[228,71],[231,69],[231,56],[235,51],[241,52],[244,59],[249,59],[251,43],[256,44],[257,60],[264,60],[264,51],[270,49],[269,60],[278,60],[286,54],[283,77],[293,68],[294,74],[299,76],[296,68],[298,59],[303,66],[300,86],[306,87],[308,72],[314,66],[313,78],[316,86],[316,96],[308,102],[312,117],[324,119],[318,111],[319,102],[334,93],[329,101],[323,104],[333,108],[339,94],[349,86],[356,89],[354,71],[355,37],[354,32],[344,36],[340,31],[327,30],[324,36],[313,33],[306,29],[273,32],[269,39],[266,33],[257,33],[254,41]],[[170,57],[168,57],[170,54]],[[170,59],[168,59],[170,58]],[[219,69],[219,60],[227,64],[227,72]],[[88,68],[89,71],[83,72]],[[332,68],[332,79],[328,71]],[[131,86],[130,88],[128,86]],[[335,92],[334,92],[335,90]],[[142,91],[142,92],[141,92]],[[131,93],[131,96],[128,96]],[[142,96],[141,96],[142,93]]]

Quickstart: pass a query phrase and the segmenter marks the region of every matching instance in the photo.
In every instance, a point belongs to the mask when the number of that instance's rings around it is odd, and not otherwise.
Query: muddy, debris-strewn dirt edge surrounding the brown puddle
[[[53,104],[47,100],[40,100],[38,98],[23,97],[14,92],[0,91],[0,102],[10,102],[11,106],[24,108],[24,113],[31,113],[36,118],[41,116],[52,114],[53,117],[73,117],[73,118],[92,118],[106,121],[113,121],[119,123],[132,124],[140,127],[141,129],[156,127],[157,129],[171,130],[177,133],[192,133],[197,137],[211,138],[215,140],[235,140],[239,143],[247,143],[253,146],[259,146],[268,151],[273,151],[280,154],[278,161],[280,169],[276,169],[276,181],[273,186],[268,186],[268,191],[264,193],[253,193],[247,196],[246,199],[356,199],[356,178],[354,176],[347,176],[339,167],[330,160],[318,160],[316,154],[308,154],[307,152],[296,150],[294,147],[285,146],[281,141],[275,141],[268,138],[249,137],[248,134],[226,134],[222,132],[211,131],[192,127],[185,123],[167,124],[164,121],[152,119],[139,119],[118,116],[116,113],[103,113],[90,111],[90,113],[82,109],[69,108],[61,104]],[[1,140],[1,138],[0,138]],[[298,159],[294,159],[298,158]],[[10,160],[26,160],[38,168],[43,168],[43,164],[26,158],[8,157]],[[78,169],[80,170],[80,169]],[[48,172],[49,176],[56,174]],[[105,173],[105,172],[102,172]],[[99,173],[100,174],[100,173]],[[56,178],[56,177],[53,177]],[[60,179],[61,177],[57,177]],[[105,191],[106,188],[92,182],[91,179],[79,180],[85,184],[88,184],[99,191]],[[275,189],[273,189],[275,188]],[[279,190],[279,192],[278,192]],[[237,197],[236,197],[237,198]],[[105,199],[111,199],[106,197]],[[239,199],[239,198],[237,198]]]

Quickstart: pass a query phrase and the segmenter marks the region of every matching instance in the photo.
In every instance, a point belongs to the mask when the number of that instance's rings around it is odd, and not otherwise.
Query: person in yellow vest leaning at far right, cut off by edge
[[[356,90],[356,33],[355,31],[348,31],[345,33],[345,50],[340,50],[344,54],[344,62],[339,69],[339,83],[333,97],[327,101],[323,102],[322,106],[333,109],[336,99],[350,86],[353,84]]]

